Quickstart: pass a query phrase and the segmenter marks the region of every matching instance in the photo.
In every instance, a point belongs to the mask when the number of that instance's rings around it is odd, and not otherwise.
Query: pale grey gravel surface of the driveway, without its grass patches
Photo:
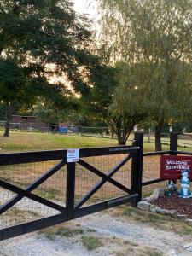
[[[32,233],[0,242],[1,256],[97,256],[97,255],[148,255],[146,248],[155,248],[166,256],[192,255],[192,238],[155,229],[147,224],[129,223],[122,218],[99,212],[73,220],[70,227],[96,230],[91,236],[102,238],[102,247],[88,251],[80,235],[67,238],[55,236],[49,239],[44,234]],[[134,244],[135,243],[135,244]],[[127,246],[127,244],[129,246]],[[130,247],[130,245],[133,245]],[[131,251],[130,251],[131,250]],[[190,252],[191,251],[191,252]],[[144,253],[145,252],[145,253]]]

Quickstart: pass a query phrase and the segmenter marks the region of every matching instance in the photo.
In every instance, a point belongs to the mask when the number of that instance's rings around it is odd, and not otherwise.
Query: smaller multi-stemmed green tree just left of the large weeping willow
[[[143,84],[139,84],[139,65],[116,64],[116,84],[113,102],[108,109],[108,120],[118,136],[119,145],[125,145],[135,125],[148,117],[148,104]]]

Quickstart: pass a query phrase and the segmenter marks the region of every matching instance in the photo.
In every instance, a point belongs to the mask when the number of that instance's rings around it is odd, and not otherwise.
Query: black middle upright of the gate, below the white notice
[[[67,163],[66,210],[67,218],[74,218],[75,163]]]

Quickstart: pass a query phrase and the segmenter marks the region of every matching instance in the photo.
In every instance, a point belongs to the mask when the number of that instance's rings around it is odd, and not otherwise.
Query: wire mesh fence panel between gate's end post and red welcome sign
[[[143,183],[160,178],[160,155],[143,157]],[[143,186],[143,197],[153,193],[156,188],[165,188],[166,182]]]

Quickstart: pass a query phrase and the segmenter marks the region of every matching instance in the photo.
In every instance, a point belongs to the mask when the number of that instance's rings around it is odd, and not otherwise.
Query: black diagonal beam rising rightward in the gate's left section
[[[48,172],[45,172],[41,177],[39,177],[32,184],[27,186],[26,189],[24,190],[25,193],[22,192],[22,195],[20,194],[15,195],[9,201],[3,204],[3,206],[0,207],[0,215],[3,214],[3,212],[6,212],[7,210],[9,210],[10,207],[13,207],[18,201],[23,199],[26,195],[29,195],[29,193],[32,192],[32,190],[36,189],[40,184],[44,183],[44,181],[46,181],[49,177],[51,177],[53,174],[55,174],[55,172],[59,171],[61,167],[65,165],[66,165],[66,160],[61,160],[57,165],[51,167]]]

